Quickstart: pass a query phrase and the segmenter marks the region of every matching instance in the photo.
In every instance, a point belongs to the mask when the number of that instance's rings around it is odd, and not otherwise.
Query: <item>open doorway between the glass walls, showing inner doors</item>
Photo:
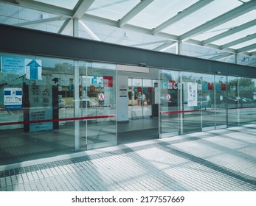
[[[117,65],[117,143],[159,138],[159,70]]]

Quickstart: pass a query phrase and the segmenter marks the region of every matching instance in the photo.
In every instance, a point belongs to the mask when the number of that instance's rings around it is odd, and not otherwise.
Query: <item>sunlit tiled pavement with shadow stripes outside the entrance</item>
[[[256,125],[0,166],[0,191],[256,191]]]

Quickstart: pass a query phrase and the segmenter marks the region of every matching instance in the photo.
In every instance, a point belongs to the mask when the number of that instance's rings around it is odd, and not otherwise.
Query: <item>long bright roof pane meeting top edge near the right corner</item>
[[[235,7],[240,6],[241,1],[235,0],[215,0],[205,7],[196,11],[195,13],[181,19],[181,21],[176,22],[176,24],[170,25],[167,29],[162,32],[172,33],[173,35],[182,35],[191,29],[212,20],[213,18],[222,15]]]

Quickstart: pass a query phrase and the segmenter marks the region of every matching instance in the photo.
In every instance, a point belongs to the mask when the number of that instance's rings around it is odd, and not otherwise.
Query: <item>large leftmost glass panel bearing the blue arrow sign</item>
[[[73,61],[0,55],[0,165],[73,152]]]

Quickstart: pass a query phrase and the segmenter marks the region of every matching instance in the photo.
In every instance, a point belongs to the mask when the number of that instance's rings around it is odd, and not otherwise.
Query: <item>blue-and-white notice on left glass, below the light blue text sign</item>
[[[22,89],[4,88],[4,109],[21,110],[22,109]]]

